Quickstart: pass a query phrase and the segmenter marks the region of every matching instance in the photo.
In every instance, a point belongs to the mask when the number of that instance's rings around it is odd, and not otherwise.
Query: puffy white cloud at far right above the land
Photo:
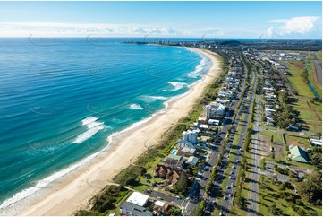
[[[318,16],[302,16],[284,20],[271,20],[269,22],[281,24],[275,27],[275,32],[279,35],[306,34],[319,28],[319,18]],[[274,27],[270,28],[268,33],[273,34]]]

